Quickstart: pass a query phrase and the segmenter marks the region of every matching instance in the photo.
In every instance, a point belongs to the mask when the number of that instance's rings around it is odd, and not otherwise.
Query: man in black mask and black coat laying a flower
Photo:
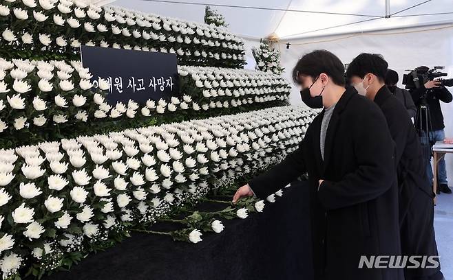
[[[343,64],[328,51],[303,56],[293,78],[302,100],[324,110],[299,148],[240,187],[233,201],[264,199],[308,172],[315,279],[403,279],[401,269],[359,268],[364,257],[401,255],[394,142],[385,117],[354,89],[345,91]]]

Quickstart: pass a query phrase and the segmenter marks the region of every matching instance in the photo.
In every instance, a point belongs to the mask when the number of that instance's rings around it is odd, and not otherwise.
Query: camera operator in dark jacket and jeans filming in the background
[[[421,66],[417,68],[417,71],[421,74],[426,73],[429,71],[428,67]],[[430,112],[430,135],[429,135],[429,142],[430,143],[423,143],[428,137],[422,138],[423,145],[430,145],[432,146],[436,141],[443,141],[445,139],[445,133],[443,128],[445,125],[443,124],[443,115],[441,110],[441,104],[439,102],[450,103],[452,102],[452,94],[448,91],[445,86],[442,85],[441,80],[429,80],[425,82],[425,84],[421,83],[418,89],[412,89],[410,91],[412,95],[412,99],[414,100],[415,105],[418,107],[421,104],[428,104],[429,112]],[[424,116],[422,115],[421,121],[425,124]],[[428,124],[429,126],[429,124]],[[426,128],[423,127],[423,133],[426,133]],[[439,194],[442,191],[445,194],[451,194],[452,190],[448,187],[447,183],[447,170],[445,170],[445,160],[441,159],[439,161],[439,188],[437,189],[437,193]],[[428,175],[428,180],[432,184],[433,174],[432,174],[432,167],[431,167],[431,153],[428,154],[428,162],[426,164],[426,174]]]

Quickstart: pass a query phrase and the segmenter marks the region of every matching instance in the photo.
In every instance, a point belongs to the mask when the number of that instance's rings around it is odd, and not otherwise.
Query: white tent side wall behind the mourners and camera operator
[[[327,49],[337,55],[342,62],[349,63],[362,52],[381,54],[386,58],[389,68],[399,73],[399,85],[405,69],[414,69],[420,65],[434,67],[445,66],[453,78],[453,26],[423,27],[410,30],[392,30],[372,34],[355,34],[332,36],[291,41],[286,49],[286,41],[280,42],[282,67],[284,75],[291,81],[291,71],[303,54],[314,49]],[[453,93],[453,87],[449,88]],[[291,103],[302,104],[299,89],[293,86]],[[445,119],[445,137],[453,137],[453,102],[441,102]],[[450,185],[453,185],[453,156],[448,154],[447,174]]]

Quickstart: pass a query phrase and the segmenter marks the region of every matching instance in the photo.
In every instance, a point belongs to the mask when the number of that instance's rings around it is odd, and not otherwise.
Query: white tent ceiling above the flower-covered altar
[[[197,22],[202,22],[204,18],[204,5],[201,4],[211,4],[224,15],[227,23],[230,24],[231,32],[244,38],[264,38],[275,34],[282,40],[288,40],[453,23],[453,0],[388,0],[390,14],[393,14],[389,19],[385,18],[386,0],[117,0],[110,2],[112,5],[131,10]],[[414,5],[416,7],[411,8]],[[242,8],[231,6],[242,6]],[[244,7],[253,7],[253,9]],[[363,22],[357,23],[359,21]]]

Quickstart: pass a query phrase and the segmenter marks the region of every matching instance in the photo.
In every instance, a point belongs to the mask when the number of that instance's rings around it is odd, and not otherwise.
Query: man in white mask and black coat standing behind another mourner
[[[397,145],[402,253],[404,256],[436,256],[439,262],[433,225],[434,193],[426,178],[420,140],[407,110],[384,84],[387,67],[386,60],[377,54],[360,54],[350,63],[346,76],[358,93],[381,108]],[[443,275],[440,266],[407,268],[405,279],[440,280]]]

